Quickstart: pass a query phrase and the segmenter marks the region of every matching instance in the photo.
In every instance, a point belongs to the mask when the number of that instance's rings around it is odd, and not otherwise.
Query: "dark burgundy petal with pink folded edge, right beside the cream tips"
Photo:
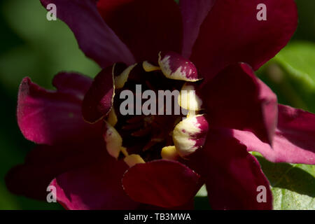
[[[276,95],[244,63],[228,66],[203,87],[209,125],[251,130],[272,144],[276,127]]]

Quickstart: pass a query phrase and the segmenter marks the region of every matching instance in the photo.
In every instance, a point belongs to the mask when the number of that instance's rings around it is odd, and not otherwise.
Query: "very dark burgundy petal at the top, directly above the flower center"
[[[181,52],[181,12],[175,1],[100,0],[97,6],[138,62],[157,62],[161,50]]]

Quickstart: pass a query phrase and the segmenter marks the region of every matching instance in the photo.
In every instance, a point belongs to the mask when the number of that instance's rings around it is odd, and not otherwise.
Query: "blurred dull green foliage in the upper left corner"
[[[94,76],[98,66],[78,49],[71,30],[61,21],[46,20],[39,0],[3,1],[1,15],[16,41],[1,41],[0,80],[12,90],[25,76],[51,87],[51,78],[59,71],[79,71]],[[14,35],[15,34],[15,35]],[[2,48],[2,46],[1,46]],[[2,75],[3,74],[3,75]],[[10,74],[10,75],[8,75]]]

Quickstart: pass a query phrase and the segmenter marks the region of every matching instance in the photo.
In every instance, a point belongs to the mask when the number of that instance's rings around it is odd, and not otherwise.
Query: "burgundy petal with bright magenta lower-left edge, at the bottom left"
[[[123,160],[108,157],[100,164],[61,174],[50,185],[57,188],[57,201],[66,209],[137,209],[139,203],[121,185],[126,169]]]

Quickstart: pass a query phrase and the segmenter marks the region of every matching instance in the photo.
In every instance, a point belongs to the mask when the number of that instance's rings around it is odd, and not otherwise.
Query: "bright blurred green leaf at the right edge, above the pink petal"
[[[315,43],[295,41],[258,71],[279,102],[315,112]]]

